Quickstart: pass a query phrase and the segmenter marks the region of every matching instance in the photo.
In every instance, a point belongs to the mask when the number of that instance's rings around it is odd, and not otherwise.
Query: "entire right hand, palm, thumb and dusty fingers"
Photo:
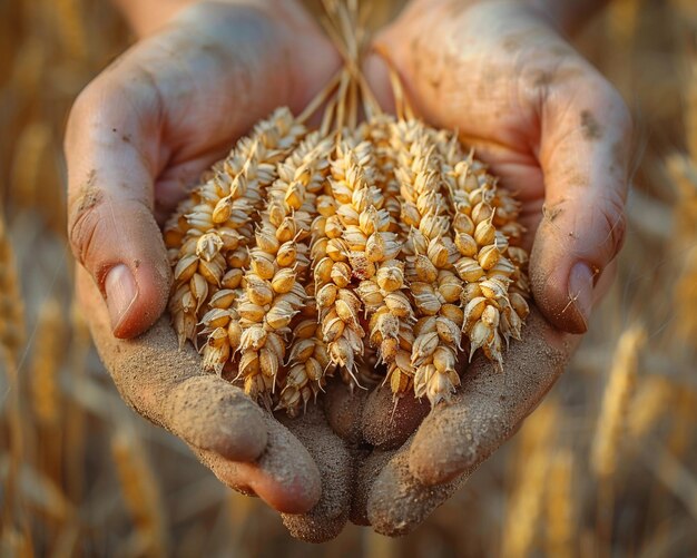
[[[563,371],[575,334],[586,332],[625,232],[630,118],[615,89],[524,2],[416,0],[376,47],[416,112],[458,129],[517,193],[539,309],[504,354],[503,373],[475,358],[452,403],[408,440],[408,430],[380,428],[392,413],[389,394],[372,394],[354,419],[376,449],[363,462],[353,519],[396,535],[517,431]],[[389,98],[380,58],[369,78]],[[415,427],[422,408],[400,407]]]

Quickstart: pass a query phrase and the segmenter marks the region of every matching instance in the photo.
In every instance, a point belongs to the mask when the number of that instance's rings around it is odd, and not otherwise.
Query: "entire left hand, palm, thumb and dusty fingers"
[[[343,444],[321,411],[286,429],[239,389],[203,375],[193,347],[178,351],[159,317],[170,270],[158,221],[238,136],[277,106],[298,112],[338,65],[292,1],[202,2],[90,84],[66,137],[78,294],[121,395],[223,482],[301,513],[285,521],[306,538],[335,536],[345,521]]]

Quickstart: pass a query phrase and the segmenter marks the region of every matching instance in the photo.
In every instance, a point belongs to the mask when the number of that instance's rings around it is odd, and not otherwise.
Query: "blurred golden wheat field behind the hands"
[[[572,366],[416,532],[323,546],[128,410],[72,307],[66,115],[129,40],[107,0],[0,2],[0,555],[697,554],[694,1],[618,0],[579,40],[638,127],[618,281]]]

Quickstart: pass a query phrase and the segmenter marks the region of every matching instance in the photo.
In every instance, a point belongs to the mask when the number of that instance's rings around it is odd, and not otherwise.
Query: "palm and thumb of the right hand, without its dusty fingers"
[[[376,50],[416,112],[457,129],[517,195],[536,303],[552,325],[586,332],[625,233],[631,119],[619,94],[524,1],[418,0]],[[372,62],[386,99],[384,63]]]

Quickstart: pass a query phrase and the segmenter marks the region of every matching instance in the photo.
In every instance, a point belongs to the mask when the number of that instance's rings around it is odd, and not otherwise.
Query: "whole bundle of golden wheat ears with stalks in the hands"
[[[180,343],[289,415],[335,372],[448,400],[463,352],[501,366],[528,314],[518,203],[455,135],[406,106],[382,114],[352,56],[303,115],[279,108],[240,139],[165,227]]]

